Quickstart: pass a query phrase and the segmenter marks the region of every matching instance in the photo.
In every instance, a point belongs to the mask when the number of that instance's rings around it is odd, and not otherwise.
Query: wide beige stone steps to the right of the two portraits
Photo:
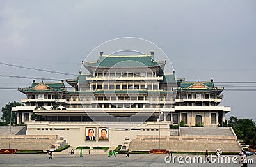
[[[166,149],[182,152],[241,152],[245,144],[238,143],[232,127],[179,127],[170,130],[170,136],[137,135],[132,139],[129,150]]]

